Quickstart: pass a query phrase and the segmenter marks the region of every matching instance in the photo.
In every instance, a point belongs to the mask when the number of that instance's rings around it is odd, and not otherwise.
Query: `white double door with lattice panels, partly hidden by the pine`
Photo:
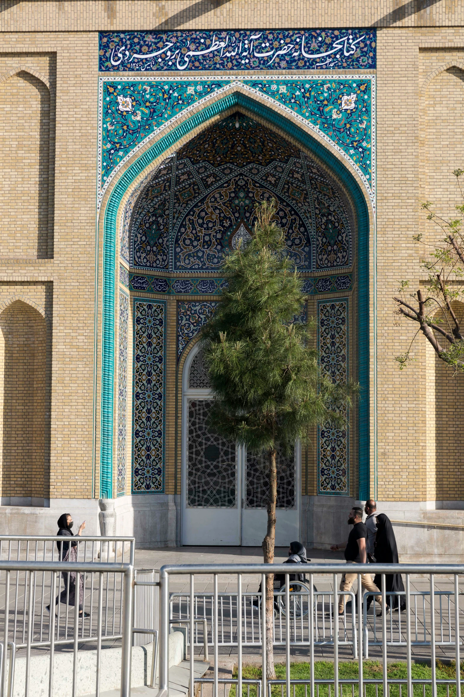
[[[266,535],[266,461],[207,427],[207,390],[186,388],[182,420],[182,544],[259,546]],[[300,448],[278,454],[275,544],[300,539]]]

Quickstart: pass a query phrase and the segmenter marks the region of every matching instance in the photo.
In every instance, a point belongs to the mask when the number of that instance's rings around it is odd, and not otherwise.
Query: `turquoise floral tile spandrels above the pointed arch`
[[[122,164],[181,114],[214,93],[239,85],[251,96],[271,102],[333,144],[374,196],[375,78],[372,75],[310,77],[170,77],[153,80],[99,78],[97,205]]]

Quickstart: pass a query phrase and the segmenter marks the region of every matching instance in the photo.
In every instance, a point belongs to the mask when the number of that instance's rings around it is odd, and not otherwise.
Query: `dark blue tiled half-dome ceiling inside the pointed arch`
[[[252,231],[255,205],[271,198],[298,270],[351,265],[352,214],[338,185],[309,155],[238,112],[187,142],[130,197],[123,256],[129,252],[136,268],[214,272]]]

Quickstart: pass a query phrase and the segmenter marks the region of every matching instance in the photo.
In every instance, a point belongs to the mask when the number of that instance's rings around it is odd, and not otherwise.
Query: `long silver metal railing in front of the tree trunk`
[[[355,569],[355,571],[354,571]],[[250,689],[246,687],[246,676],[243,676],[243,648],[246,647],[247,643],[245,641],[245,627],[246,621],[243,613],[244,601],[247,597],[252,595],[255,599],[258,598],[257,593],[251,593],[246,590],[242,590],[243,576],[247,576],[247,587],[249,585],[249,576],[255,575],[255,579],[261,582],[262,594],[264,596],[266,589],[266,574],[272,571],[273,574],[284,574],[285,575],[285,592],[281,595],[280,603],[281,608],[278,612],[280,618],[282,618],[282,625],[284,627],[282,631],[282,643],[285,645],[285,680],[267,680],[266,677],[266,642],[261,642],[261,653],[262,653],[262,678],[261,678],[261,694],[266,694],[267,697],[275,694],[275,691],[281,691],[282,697],[285,694],[286,697],[307,697],[308,693],[310,697],[319,697],[319,693],[322,689],[321,695],[323,697],[332,697],[331,693],[333,691],[333,697],[402,697],[401,691],[403,690],[404,697],[419,697],[426,694],[431,694],[431,697],[441,697],[445,694],[443,690],[446,689],[447,697],[461,697],[461,661],[460,661],[460,651],[461,651],[461,608],[459,607],[460,592],[459,592],[459,576],[464,575],[464,565],[393,565],[393,564],[369,564],[363,565],[358,564],[355,567],[351,567],[350,571],[355,572],[358,581],[358,590],[356,592],[357,608],[355,615],[353,615],[353,630],[356,637],[357,649],[358,649],[358,675],[355,678],[341,679],[339,676],[339,647],[342,642],[339,641],[339,624],[343,622],[342,617],[339,617],[337,608],[340,605],[343,606],[342,596],[347,595],[346,591],[338,590],[339,580],[344,573],[344,566],[340,564],[308,564],[305,566],[305,574],[308,577],[309,592],[305,595],[309,596],[309,601],[307,602],[308,612],[307,612],[307,654],[308,654],[308,664],[309,664],[309,677],[307,680],[294,680],[290,675],[290,657],[291,657],[291,645],[293,638],[295,636],[294,627],[295,617],[298,620],[298,612],[300,606],[298,603],[301,601],[298,599],[298,595],[301,592],[298,591],[296,595],[292,592],[293,582],[290,581],[291,572],[289,571],[288,565],[182,565],[182,566],[163,566],[160,571],[160,661],[159,661],[159,697],[168,697],[168,687],[169,687],[169,668],[168,668],[168,636],[169,628],[173,622],[171,614],[173,613],[173,606],[175,606],[175,598],[179,599],[185,597],[185,594],[179,594],[173,592],[170,593],[170,578],[171,576],[189,576],[189,606],[186,606],[186,610],[189,608],[194,608],[193,612],[189,611],[189,632],[190,636],[194,637],[197,641],[192,641],[201,644],[198,641],[198,635],[195,636],[196,625],[201,626],[201,622],[198,622],[198,618],[195,618],[195,614],[198,615],[198,601],[195,600],[195,576],[201,576],[201,583],[205,583],[205,574],[210,574],[213,579],[213,592],[200,594],[200,604],[202,602],[202,597],[212,596],[212,606],[211,606],[211,625],[212,625],[212,646],[214,653],[214,677],[211,679],[213,684],[213,697],[219,697],[219,685],[230,684],[235,685],[237,697],[241,697],[243,694],[243,687],[245,689]],[[236,626],[237,626],[237,641],[234,644],[237,645],[237,680],[235,678],[227,680],[219,680],[218,677],[218,649],[221,645],[222,636],[220,634],[221,627],[221,594],[218,592],[218,579],[220,576],[227,576],[227,586],[230,586],[230,575],[233,574],[237,579],[237,592],[227,592],[227,598],[229,598],[229,608],[232,602],[232,612],[233,615],[233,599],[235,598],[236,608],[240,611],[236,612]],[[365,641],[365,618],[366,622],[370,620],[368,615],[365,615],[362,607],[363,595],[367,599],[367,595],[362,592],[362,574],[379,574],[381,576],[381,591],[377,594],[381,599],[381,635],[378,636],[379,646],[381,648],[381,676],[378,679],[366,678],[364,675],[364,660],[363,656],[363,643]],[[387,671],[387,660],[388,652],[391,652],[392,642],[389,641],[389,634],[387,632],[387,596],[391,595],[386,591],[386,576],[390,574],[401,574],[405,579],[405,592],[403,597],[406,601],[406,609],[403,613],[403,638],[404,646],[406,649],[406,677],[404,679],[399,679],[397,677],[393,678],[389,675]],[[435,575],[446,575],[451,576],[452,588],[444,594],[440,595],[440,591],[435,592]],[[314,591],[314,577],[317,575],[318,579],[321,577],[328,580],[332,590],[324,591],[322,595],[326,594],[326,597],[331,597],[332,605],[332,618],[333,618],[333,629],[331,636],[331,647],[333,648],[333,679],[321,680],[319,677],[314,675],[314,648],[317,646],[319,641],[317,635],[317,613],[318,604],[321,604],[319,599],[318,603],[315,604],[315,595],[319,594],[319,591]],[[419,579],[422,579],[424,575],[429,578],[429,599],[427,601],[426,594],[417,594],[415,590],[411,590],[411,576],[418,575]],[[319,581],[318,581],[319,583]],[[435,597],[435,595],[437,597]],[[447,596],[446,601],[443,598]],[[224,594],[223,594],[224,597]],[[354,606],[354,597],[352,597],[352,604]],[[421,606],[419,602],[420,612],[417,611],[417,599],[419,597],[425,598],[420,602],[426,603],[426,606]],[[441,598],[441,599],[440,599]],[[186,604],[186,601],[182,601]],[[330,602],[330,601],[329,601]],[[428,604],[427,604],[428,602]],[[223,601],[224,605],[224,601]],[[259,602],[257,602],[259,608]],[[445,613],[442,611],[440,613],[440,607],[447,608]],[[424,610],[425,608],[425,610]],[[427,642],[422,642],[422,645],[427,645],[429,648],[429,658],[431,666],[431,677],[428,679],[414,679],[413,680],[413,638],[415,634],[413,626],[415,626],[416,616],[428,615],[427,629],[428,644]],[[179,611],[180,613],[180,611]],[[201,614],[201,613],[200,613]],[[330,618],[330,611],[328,613]],[[375,610],[374,610],[375,615]],[[449,629],[442,629],[442,620],[440,617],[449,618]],[[346,615],[344,615],[346,616]],[[186,620],[184,619],[184,622]],[[375,620],[376,621],[376,620]],[[265,613],[261,612],[258,615],[257,622],[260,626],[260,636],[264,636],[266,631],[266,620]],[[437,630],[437,622],[438,627]],[[293,625],[293,628],[292,628]],[[444,625],[443,625],[444,626]],[[280,627],[280,620],[279,620]],[[369,631],[369,627],[368,627]],[[438,634],[437,634],[438,631]],[[448,635],[446,635],[448,631]],[[275,622],[274,622],[274,632],[275,632]],[[436,674],[436,661],[435,661],[435,648],[438,645],[443,644],[442,636],[446,639],[446,645],[452,647],[454,659],[455,659],[455,677],[451,680],[438,680]],[[401,640],[403,641],[403,639]],[[328,642],[326,643],[328,646]],[[193,647],[192,647],[193,648]],[[208,684],[209,680],[205,678],[195,679],[194,674],[194,651],[190,652],[190,684]],[[395,655],[395,659],[398,656]],[[280,690],[279,690],[280,687]],[[437,692],[437,688],[440,688],[440,694]],[[413,688],[415,688],[413,692]],[[417,691],[419,690],[419,691]],[[193,691],[191,691],[193,694]]]

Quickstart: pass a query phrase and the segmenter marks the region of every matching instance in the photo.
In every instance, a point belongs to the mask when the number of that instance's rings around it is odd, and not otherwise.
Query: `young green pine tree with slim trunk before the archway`
[[[285,237],[273,222],[275,201],[257,208],[248,244],[227,255],[227,290],[202,332],[214,403],[210,425],[218,434],[266,454],[269,478],[264,562],[274,560],[278,447],[307,443],[310,427],[335,422],[357,388],[322,376],[311,326],[298,321],[305,303],[302,281],[288,258]],[[273,662],[273,574],[266,576],[266,655]]]

